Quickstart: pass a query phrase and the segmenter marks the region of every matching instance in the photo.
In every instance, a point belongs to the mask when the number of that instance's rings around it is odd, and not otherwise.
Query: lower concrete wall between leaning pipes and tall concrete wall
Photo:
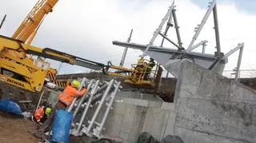
[[[125,143],[135,142],[142,132],[151,133],[161,140],[174,133],[174,119],[173,103],[124,97],[114,102],[104,134],[121,137]]]

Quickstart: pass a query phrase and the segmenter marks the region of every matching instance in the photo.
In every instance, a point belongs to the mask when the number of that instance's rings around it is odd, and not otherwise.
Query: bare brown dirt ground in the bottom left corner
[[[0,111],[0,143],[38,143],[29,130],[34,130],[37,124],[33,121]],[[70,143],[79,143],[80,137],[70,137]]]

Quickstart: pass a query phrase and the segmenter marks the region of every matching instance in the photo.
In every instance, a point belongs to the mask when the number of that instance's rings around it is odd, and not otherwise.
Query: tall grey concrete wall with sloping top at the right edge
[[[174,133],[189,143],[256,142],[256,92],[191,62],[176,85]]]

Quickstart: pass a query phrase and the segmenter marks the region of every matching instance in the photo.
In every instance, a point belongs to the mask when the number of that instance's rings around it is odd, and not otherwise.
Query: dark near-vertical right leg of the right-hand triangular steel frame
[[[218,32],[218,14],[217,14],[217,5],[214,6],[214,30],[215,30],[215,38],[216,38],[216,48],[217,48],[217,56],[221,57],[221,43],[219,40],[219,32]]]

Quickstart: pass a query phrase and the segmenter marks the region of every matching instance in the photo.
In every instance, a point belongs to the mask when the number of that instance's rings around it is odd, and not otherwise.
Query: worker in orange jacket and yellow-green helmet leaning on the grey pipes
[[[82,97],[82,95],[87,92],[86,88],[78,91],[78,87],[80,87],[80,82],[74,80],[66,86],[62,93],[58,95],[58,102],[54,106],[52,113],[50,113],[50,117],[48,117],[44,125],[42,125],[38,129],[38,132],[34,133],[35,137],[44,137],[44,133],[51,129],[56,109],[66,109],[66,107],[68,107],[72,103],[74,97]]]

